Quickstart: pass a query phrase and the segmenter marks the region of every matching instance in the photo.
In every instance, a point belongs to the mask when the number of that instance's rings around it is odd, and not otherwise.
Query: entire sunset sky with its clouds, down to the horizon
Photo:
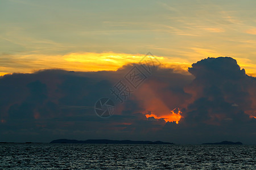
[[[0,0],[0,142],[256,144],[255,7]],[[120,103],[109,89],[148,52],[159,65]],[[113,116],[95,113],[101,97]]]

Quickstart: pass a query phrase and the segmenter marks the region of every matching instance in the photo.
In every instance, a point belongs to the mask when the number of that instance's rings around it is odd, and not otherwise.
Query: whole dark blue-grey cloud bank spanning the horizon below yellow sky
[[[192,75],[156,68],[123,104],[110,88],[132,65],[117,71],[42,70],[0,78],[0,141],[43,141],[56,138],[108,138],[200,143],[214,140],[255,141],[256,80],[229,57],[203,59]],[[94,104],[112,97],[117,108],[100,118]],[[180,108],[179,124],[162,116]],[[242,139],[241,139],[242,138]],[[207,141],[210,140],[210,141]]]

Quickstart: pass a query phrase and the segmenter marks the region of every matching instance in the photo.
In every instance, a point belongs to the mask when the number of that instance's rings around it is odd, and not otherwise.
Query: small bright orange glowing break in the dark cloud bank
[[[176,108],[175,108],[176,109]],[[166,122],[176,122],[176,124],[179,124],[179,121],[180,121],[180,118],[181,118],[181,111],[180,109],[178,108],[178,113],[175,113],[174,110],[171,111],[170,114],[166,114],[166,115],[163,115],[163,116],[156,116],[155,114],[145,114],[145,116],[148,118],[148,117],[154,117],[154,118],[162,118],[164,121]]]

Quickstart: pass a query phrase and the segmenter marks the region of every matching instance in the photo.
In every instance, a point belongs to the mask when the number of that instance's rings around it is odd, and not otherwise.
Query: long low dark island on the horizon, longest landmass
[[[108,139],[88,139],[86,141],[77,141],[71,139],[57,139],[50,143],[92,143],[92,144],[167,144],[167,145],[174,145],[174,143],[170,142],[162,142],[162,141],[130,141],[130,140],[108,140]]]

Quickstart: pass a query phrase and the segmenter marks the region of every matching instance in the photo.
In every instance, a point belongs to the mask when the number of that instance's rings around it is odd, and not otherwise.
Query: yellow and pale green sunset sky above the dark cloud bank
[[[116,70],[147,52],[186,67],[230,56],[256,73],[255,1],[0,3],[1,74]]]

